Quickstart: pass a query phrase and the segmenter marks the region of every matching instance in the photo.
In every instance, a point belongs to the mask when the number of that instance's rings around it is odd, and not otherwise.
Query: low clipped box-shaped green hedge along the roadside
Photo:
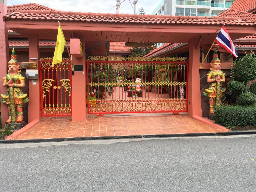
[[[214,121],[225,127],[256,126],[256,108],[221,105],[214,109]]]

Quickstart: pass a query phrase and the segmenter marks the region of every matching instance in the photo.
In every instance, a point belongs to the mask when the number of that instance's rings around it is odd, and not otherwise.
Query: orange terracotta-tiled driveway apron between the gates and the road
[[[87,121],[77,122],[72,117],[51,117],[14,140],[218,132],[226,131],[188,115],[88,116]]]

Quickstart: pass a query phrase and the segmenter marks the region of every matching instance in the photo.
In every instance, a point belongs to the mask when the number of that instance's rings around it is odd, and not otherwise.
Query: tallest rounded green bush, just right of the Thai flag
[[[240,81],[248,82],[256,78],[256,58],[254,54],[247,54],[235,60],[234,63],[236,65],[235,72]]]

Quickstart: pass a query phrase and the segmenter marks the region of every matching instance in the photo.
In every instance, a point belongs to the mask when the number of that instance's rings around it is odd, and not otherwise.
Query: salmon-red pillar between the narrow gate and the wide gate
[[[76,36],[83,44],[83,58],[72,57],[73,65],[83,65],[83,71],[72,75],[72,121],[86,121],[86,61],[83,36]]]

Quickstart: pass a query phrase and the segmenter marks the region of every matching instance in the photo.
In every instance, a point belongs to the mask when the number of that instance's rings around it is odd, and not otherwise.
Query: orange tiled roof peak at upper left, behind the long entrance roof
[[[49,7],[45,7],[43,5],[38,5],[36,3],[28,3],[23,5],[13,5],[13,6],[7,6],[7,13],[14,13],[14,12],[20,12],[24,10],[51,10],[56,11],[56,9],[51,9]]]

